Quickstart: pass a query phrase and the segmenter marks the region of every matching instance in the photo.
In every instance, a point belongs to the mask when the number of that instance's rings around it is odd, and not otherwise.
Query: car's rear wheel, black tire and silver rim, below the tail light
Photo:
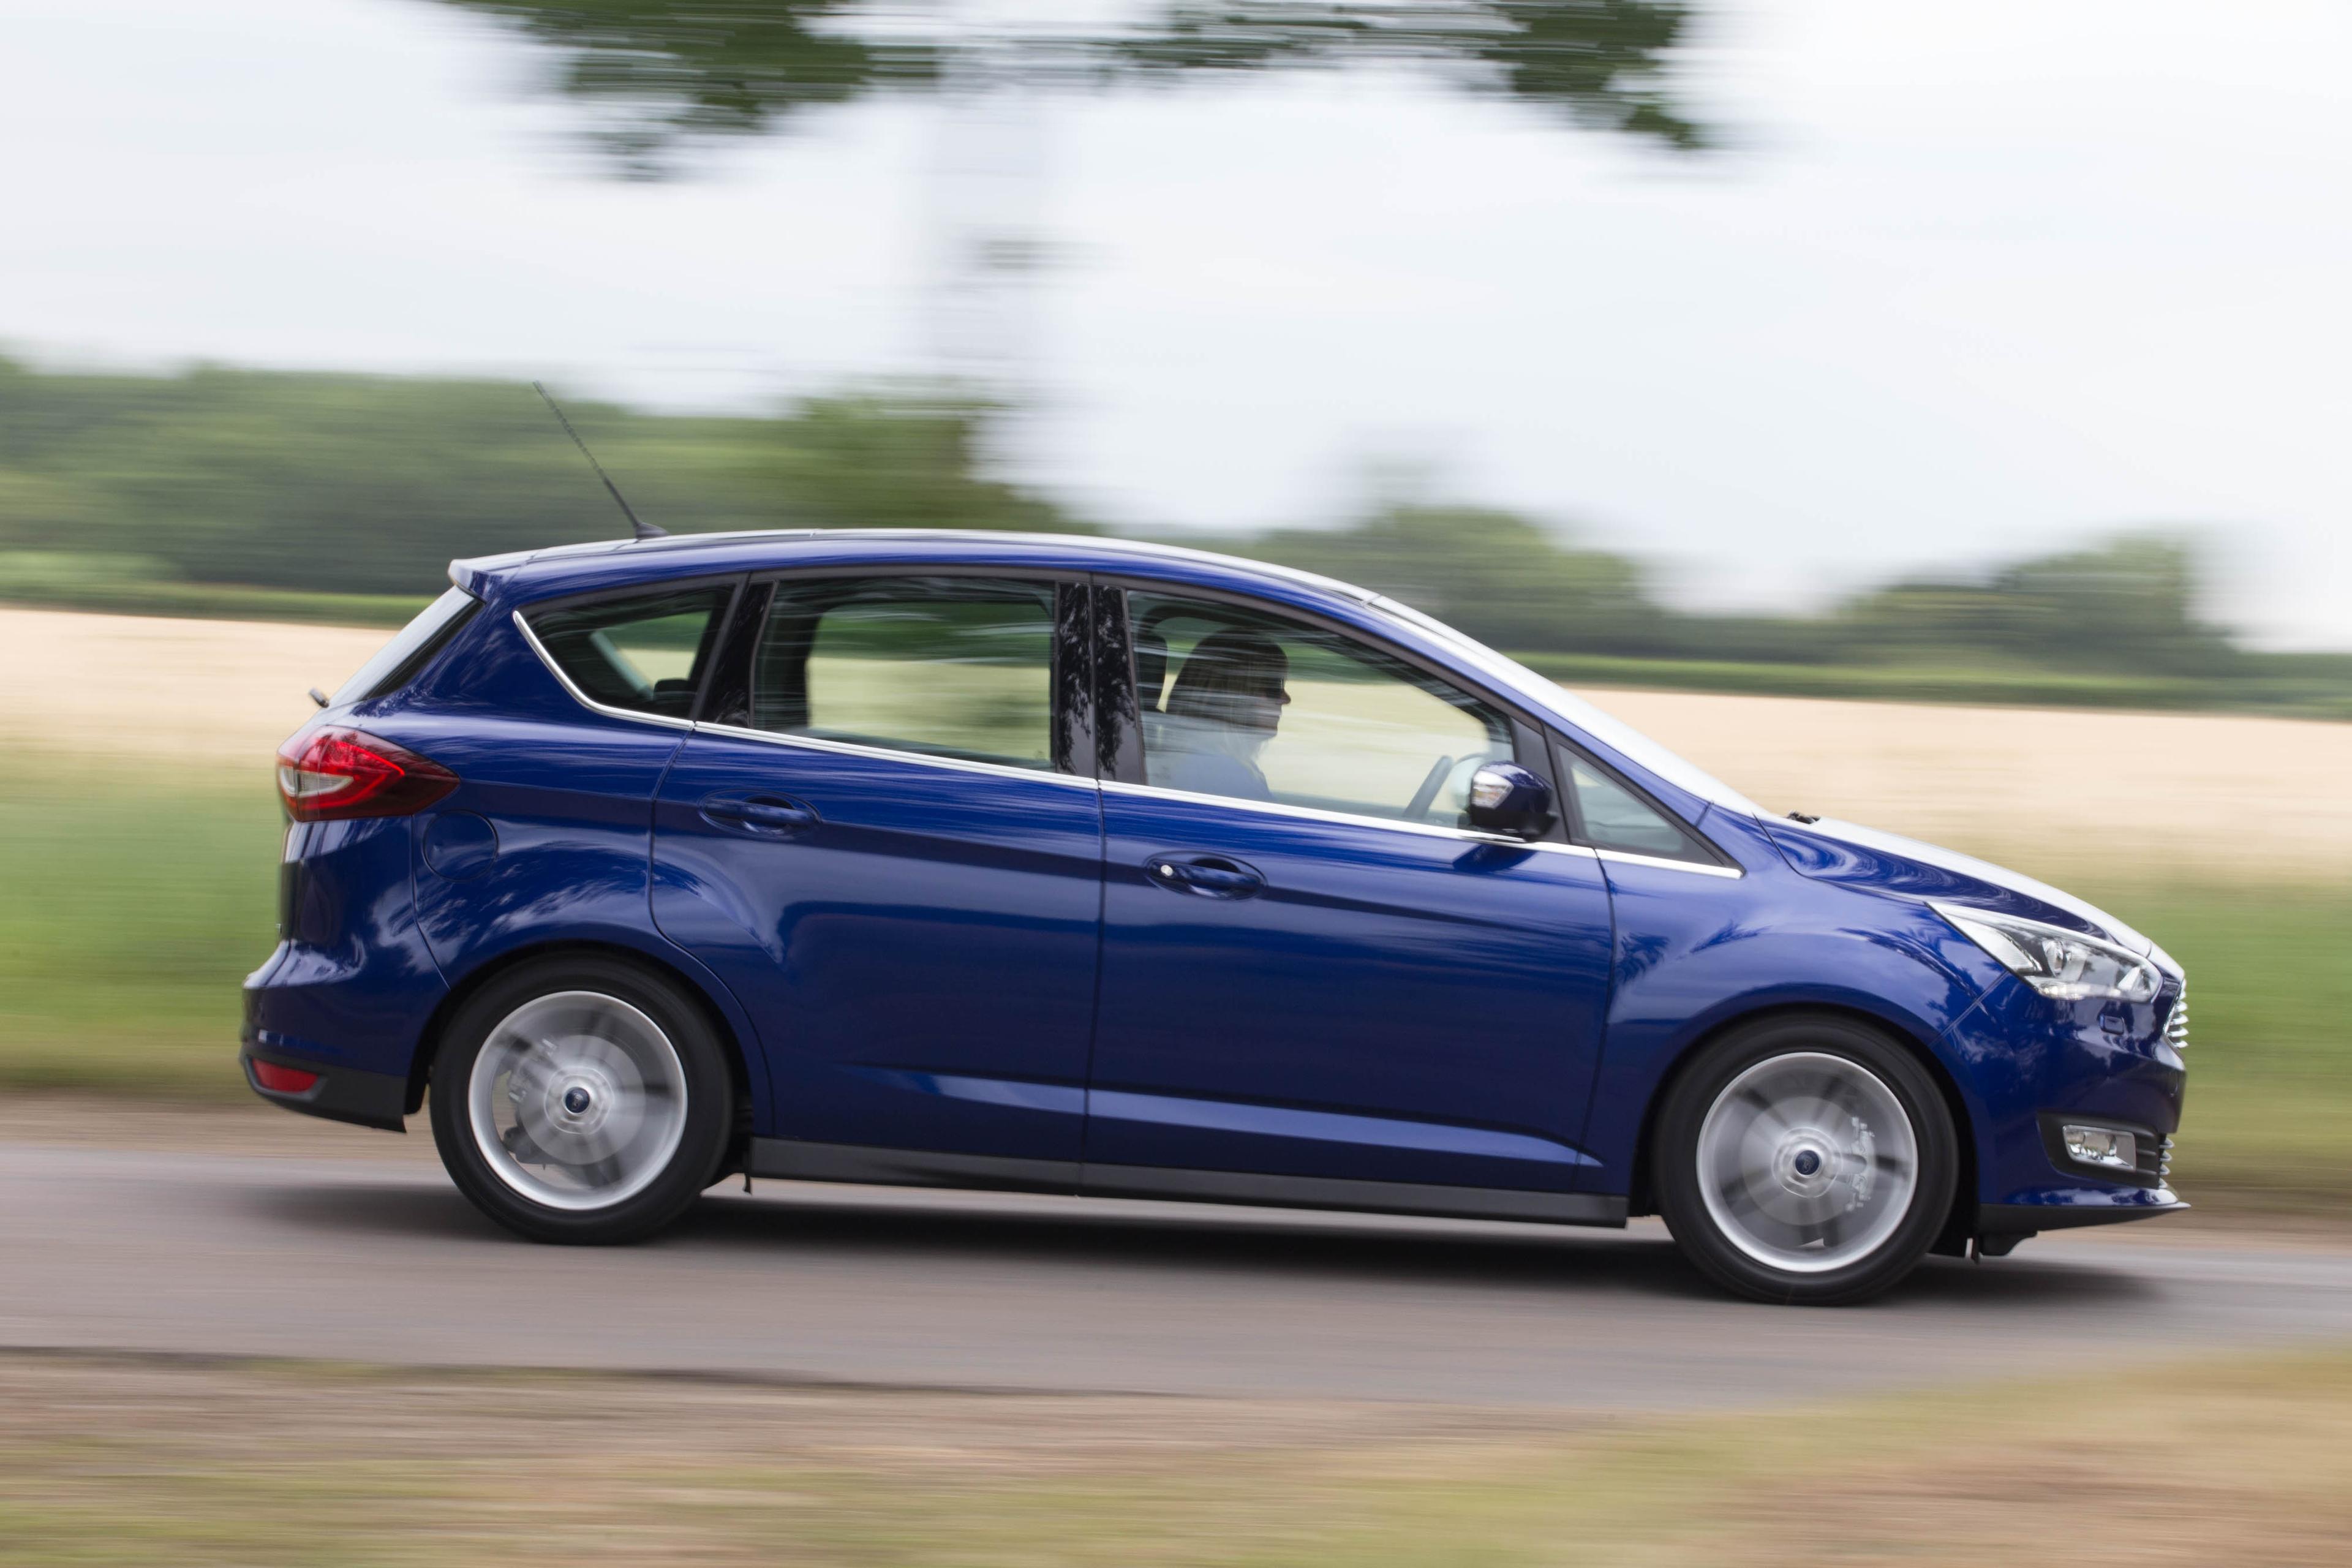
[[[492,980],[433,1060],[433,1138],[459,1190],[534,1241],[637,1241],[717,1178],[727,1058],[694,1001],[628,964]]]

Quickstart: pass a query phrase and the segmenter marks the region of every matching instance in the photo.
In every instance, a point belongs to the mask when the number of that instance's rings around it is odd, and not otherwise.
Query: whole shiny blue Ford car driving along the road
[[[2183,973],[1392,599],[1103,538],[456,562],[278,759],[242,1065],[539,1241],[734,1173],[1625,1225],[1851,1302],[2169,1213]]]

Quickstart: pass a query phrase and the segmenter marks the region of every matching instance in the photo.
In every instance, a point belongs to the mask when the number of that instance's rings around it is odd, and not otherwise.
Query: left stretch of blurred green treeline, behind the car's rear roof
[[[572,404],[635,508],[673,531],[1077,527],[976,473],[985,414],[922,388],[774,418]],[[139,557],[198,583],[419,592],[459,555],[623,531],[520,383],[0,360],[0,550]]]

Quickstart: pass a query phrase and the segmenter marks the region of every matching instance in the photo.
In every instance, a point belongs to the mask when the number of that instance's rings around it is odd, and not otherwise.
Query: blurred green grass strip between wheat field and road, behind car
[[[0,1086],[242,1100],[238,980],[275,940],[280,835],[261,769],[0,762]],[[2060,884],[2190,971],[2183,1194],[2352,1197],[2352,889]]]

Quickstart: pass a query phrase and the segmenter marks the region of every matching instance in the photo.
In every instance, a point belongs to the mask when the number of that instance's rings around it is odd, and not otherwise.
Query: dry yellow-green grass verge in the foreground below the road
[[[2338,1563],[2352,1356],[1679,1420],[0,1356],[0,1563]]]

